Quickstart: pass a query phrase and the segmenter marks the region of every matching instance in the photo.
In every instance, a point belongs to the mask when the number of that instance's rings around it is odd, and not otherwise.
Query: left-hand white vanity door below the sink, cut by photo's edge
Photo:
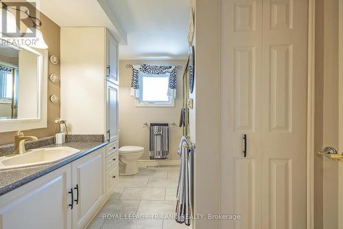
[[[0,228],[71,228],[71,166],[0,197]]]

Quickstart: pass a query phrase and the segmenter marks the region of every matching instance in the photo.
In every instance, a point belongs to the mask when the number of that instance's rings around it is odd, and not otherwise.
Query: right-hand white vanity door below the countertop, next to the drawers
[[[84,228],[104,204],[104,160],[104,148],[102,148],[71,164],[75,199],[73,228]]]

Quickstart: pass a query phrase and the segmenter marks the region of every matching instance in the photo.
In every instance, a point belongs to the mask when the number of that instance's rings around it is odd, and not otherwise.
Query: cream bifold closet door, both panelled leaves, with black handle
[[[307,5],[222,1],[222,228],[306,226]]]

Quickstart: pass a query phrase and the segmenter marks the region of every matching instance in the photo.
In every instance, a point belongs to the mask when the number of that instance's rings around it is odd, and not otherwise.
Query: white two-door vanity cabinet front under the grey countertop
[[[0,228],[85,228],[108,196],[105,148],[0,197]]]

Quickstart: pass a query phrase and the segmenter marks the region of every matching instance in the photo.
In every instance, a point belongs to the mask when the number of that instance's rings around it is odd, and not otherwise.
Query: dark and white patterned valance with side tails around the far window
[[[132,65],[131,96],[139,98],[139,73],[162,75],[169,74],[168,96],[176,98],[177,66]]]

